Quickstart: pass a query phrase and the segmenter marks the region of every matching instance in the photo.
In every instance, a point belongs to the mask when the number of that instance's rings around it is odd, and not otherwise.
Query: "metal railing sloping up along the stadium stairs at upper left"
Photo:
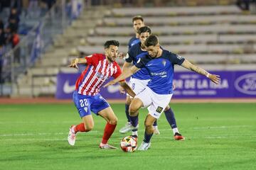
[[[18,76],[26,74],[28,68],[41,58],[50,45],[53,45],[55,35],[63,33],[63,30],[80,15],[83,4],[75,1],[75,13],[73,5],[73,0],[58,0],[46,13],[46,16],[41,18],[28,34],[21,38],[18,45],[1,57],[1,96],[11,94],[11,91],[8,91],[7,94],[4,92],[6,86],[9,87],[7,89],[12,89],[12,86],[18,81]]]

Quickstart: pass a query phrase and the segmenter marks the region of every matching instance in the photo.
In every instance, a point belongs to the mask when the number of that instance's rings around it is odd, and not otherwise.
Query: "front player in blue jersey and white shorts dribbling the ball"
[[[152,125],[154,121],[160,117],[164,108],[166,108],[171,100],[171,96],[173,95],[172,81],[174,78],[174,64],[181,65],[186,69],[202,74],[215,84],[219,84],[220,81],[218,75],[210,74],[206,72],[206,70],[191,64],[191,62],[188,62],[188,60],[183,57],[161,49],[159,39],[156,35],[150,35],[149,38],[146,38],[145,47],[148,52],[147,55],[141,57],[137,64],[127,70],[127,72],[123,72],[117,79],[105,85],[116,84],[119,80],[132,76],[132,74],[142,68],[146,68],[151,75],[151,80],[146,88],[134,97],[129,107],[132,122],[138,116],[139,108],[147,107],[149,111],[144,122],[144,140],[138,150],[149,149],[151,145],[150,140],[154,133]]]

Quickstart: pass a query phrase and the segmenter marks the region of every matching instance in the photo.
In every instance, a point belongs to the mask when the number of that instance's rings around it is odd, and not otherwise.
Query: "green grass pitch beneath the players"
[[[109,143],[119,147],[124,104],[112,108],[119,122]],[[256,169],[255,103],[174,103],[171,108],[186,140],[173,139],[163,113],[161,134],[153,135],[151,148],[124,153],[98,147],[105,120],[97,116],[95,128],[69,146],[68,129],[80,123],[73,103],[0,105],[0,169]],[[141,110],[139,144],[145,116]]]

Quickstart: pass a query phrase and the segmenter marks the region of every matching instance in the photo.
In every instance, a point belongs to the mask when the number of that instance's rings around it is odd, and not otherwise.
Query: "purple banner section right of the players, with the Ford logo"
[[[256,98],[255,72],[210,72],[220,75],[220,84],[194,72],[174,74],[174,98]]]

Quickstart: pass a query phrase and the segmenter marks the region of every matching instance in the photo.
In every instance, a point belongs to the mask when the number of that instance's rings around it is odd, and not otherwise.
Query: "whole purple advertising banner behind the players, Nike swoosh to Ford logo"
[[[210,72],[220,75],[220,84],[213,84],[207,77],[194,72],[175,72],[173,98],[256,98],[256,71]],[[79,74],[58,74],[56,98],[72,98]],[[124,99],[119,85],[100,89],[107,99]]]

